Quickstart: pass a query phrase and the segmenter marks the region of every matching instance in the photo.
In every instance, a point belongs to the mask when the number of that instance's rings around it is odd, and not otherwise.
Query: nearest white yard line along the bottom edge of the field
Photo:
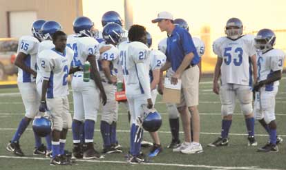
[[[8,159],[22,159],[22,160],[49,160],[48,158],[32,158],[32,157],[18,157],[18,156],[0,156],[0,158]],[[111,163],[111,164],[128,164],[126,161],[115,160],[77,160],[77,162],[96,162],[96,163]],[[144,166],[164,166],[164,167],[197,167],[206,169],[247,169],[247,170],[280,170],[280,169],[261,169],[260,167],[220,167],[204,164],[167,164],[167,163],[141,163]]]

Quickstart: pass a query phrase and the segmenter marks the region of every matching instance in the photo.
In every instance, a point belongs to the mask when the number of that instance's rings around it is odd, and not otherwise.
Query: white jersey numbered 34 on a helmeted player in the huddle
[[[117,70],[118,70],[118,61],[119,61],[119,50],[114,45],[108,44],[111,46],[110,50],[107,50],[106,52],[103,52],[99,57],[99,74],[100,76],[107,82],[106,76],[104,72],[102,71],[102,64],[100,61],[106,60],[111,61],[111,65],[109,66],[111,70],[112,76],[117,76]]]

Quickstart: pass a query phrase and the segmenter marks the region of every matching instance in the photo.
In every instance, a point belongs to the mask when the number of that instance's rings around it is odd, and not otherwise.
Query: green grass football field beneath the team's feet
[[[117,124],[117,136],[120,144],[124,147],[124,153],[106,155],[102,160],[79,160],[72,166],[51,167],[49,160],[44,157],[33,156],[34,137],[31,125],[21,137],[21,149],[25,157],[15,157],[6,151],[6,145],[11,140],[18,123],[23,118],[24,107],[21,95],[17,88],[0,89],[0,169],[286,169],[286,80],[280,81],[280,88],[276,96],[276,120],[278,134],[284,138],[282,145],[279,145],[278,153],[257,153],[256,149],[265,145],[268,136],[265,130],[256,122],[256,140],[258,147],[247,147],[247,134],[245,120],[240,114],[237,105],[233,116],[233,123],[230,130],[230,143],[228,147],[212,148],[207,147],[220,135],[221,115],[219,96],[213,94],[210,78],[204,78],[200,83],[200,120],[201,136],[200,142],[204,149],[203,153],[183,154],[173,153],[166,146],[171,142],[169,132],[169,119],[166,114],[166,105],[161,102],[158,96],[158,103],[155,108],[160,111],[163,124],[160,129],[160,140],[164,151],[151,164],[131,165],[126,163],[124,155],[128,152],[129,127],[126,110],[120,105],[119,123]],[[73,100],[70,94],[70,112],[73,114]],[[96,147],[102,151],[102,136],[99,131],[100,114],[97,117],[95,127]],[[182,131],[182,128],[181,128]],[[149,134],[145,133],[144,138],[150,140]],[[180,134],[183,140],[183,134]],[[43,139],[43,142],[45,140]],[[66,149],[72,150],[71,131],[68,133]],[[143,150],[145,153],[148,149]]]

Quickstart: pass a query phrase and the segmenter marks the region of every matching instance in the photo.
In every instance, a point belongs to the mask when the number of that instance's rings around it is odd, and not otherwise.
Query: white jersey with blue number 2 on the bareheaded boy
[[[39,70],[43,79],[48,80],[47,98],[68,95],[68,72],[73,60],[73,50],[66,47],[64,54],[52,50],[43,50],[38,55],[41,65]]]

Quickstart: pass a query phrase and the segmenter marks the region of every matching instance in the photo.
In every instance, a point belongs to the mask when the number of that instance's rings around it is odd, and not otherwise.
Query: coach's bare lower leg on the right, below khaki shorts
[[[188,107],[191,118],[192,118],[192,126],[193,126],[193,142],[200,142],[200,115],[198,113],[197,106]]]

